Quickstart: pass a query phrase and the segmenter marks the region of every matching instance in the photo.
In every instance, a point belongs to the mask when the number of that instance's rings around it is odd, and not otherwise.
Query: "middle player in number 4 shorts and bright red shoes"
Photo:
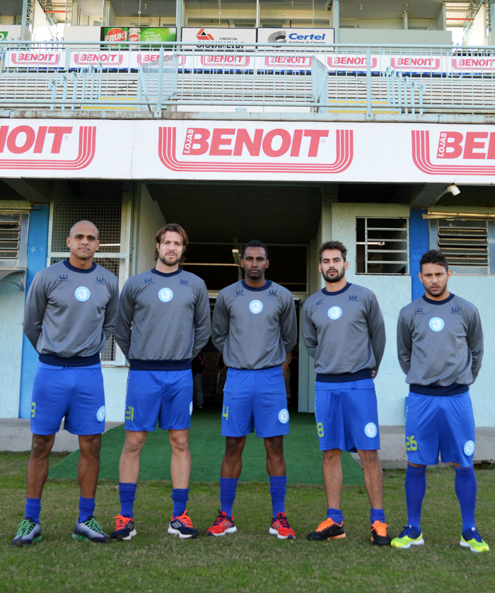
[[[273,509],[269,533],[295,539],[285,514],[284,435],[289,433],[289,411],[281,365],[296,344],[296,307],[289,290],[265,279],[269,260],[264,243],[246,243],[241,266],[245,279],[220,291],[213,314],[211,339],[228,368],[221,430],[226,450],[220,473],[221,510],[206,535],[237,531],[232,507],[246,436],[256,429],[267,451]]]

